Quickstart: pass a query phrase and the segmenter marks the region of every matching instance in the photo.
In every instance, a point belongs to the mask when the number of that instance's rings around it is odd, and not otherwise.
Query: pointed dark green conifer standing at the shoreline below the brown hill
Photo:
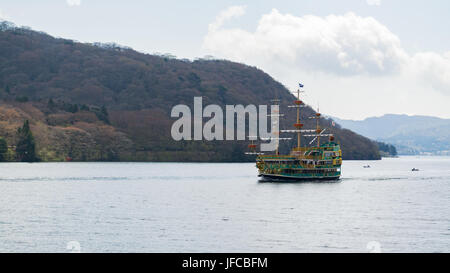
[[[17,130],[17,160],[21,162],[36,162],[36,143],[30,129],[30,123],[26,120],[23,126]]]

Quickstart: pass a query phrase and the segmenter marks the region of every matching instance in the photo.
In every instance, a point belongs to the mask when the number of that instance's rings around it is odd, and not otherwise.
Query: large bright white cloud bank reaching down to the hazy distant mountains
[[[386,26],[354,13],[298,17],[274,9],[247,31],[224,27],[245,10],[235,11],[209,26],[205,53],[260,67],[292,89],[304,81],[305,100],[331,115],[450,118],[450,52],[409,54]]]

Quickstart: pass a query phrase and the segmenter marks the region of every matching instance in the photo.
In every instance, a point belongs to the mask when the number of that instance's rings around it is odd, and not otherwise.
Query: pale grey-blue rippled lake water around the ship
[[[254,165],[0,164],[0,252],[450,251],[450,157],[345,161],[333,183]]]

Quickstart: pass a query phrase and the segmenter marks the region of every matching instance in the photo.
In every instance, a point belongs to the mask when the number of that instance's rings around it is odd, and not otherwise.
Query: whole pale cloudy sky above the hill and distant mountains
[[[450,1],[2,0],[0,19],[256,66],[325,115],[450,118]]]

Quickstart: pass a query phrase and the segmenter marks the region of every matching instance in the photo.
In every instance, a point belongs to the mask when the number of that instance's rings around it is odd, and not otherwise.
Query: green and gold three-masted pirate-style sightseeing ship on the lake
[[[299,84],[302,88],[303,85]],[[263,154],[255,151],[256,145],[249,145],[252,150],[249,154],[256,154],[256,167],[260,177],[263,180],[336,180],[341,175],[342,152],[340,145],[335,142],[333,134],[325,134],[326,128],[320,127],[321,114],[315,113],[309,117],[315,119],[315,129],[303,129],[303,123],[300,120],[300,109],[306,107],[300,99],[300,89],[297,90],[297,99],[294,101],[293,107],[297,109],[297,120],[293,124],[293,130],[280,130],[280,133],[297,134],[297,146],[294,147],[289,154],[281,155],[278,147],[274,154]],[[282,115],[280,115],[282,116]],[[312,137],[313,139],[307,144],[301,145],[302,134],[304,137]],[[323,138],[328,138],[321,142]],[[286,140],[286,138],[279,138]]]

